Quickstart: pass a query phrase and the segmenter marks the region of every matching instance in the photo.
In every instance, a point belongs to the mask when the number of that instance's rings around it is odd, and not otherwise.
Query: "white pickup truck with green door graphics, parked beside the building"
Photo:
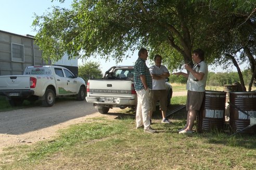
[[[23,100],[41,100],[45,107],[53,106],[55,98],[76,96],[84,100],[85,81],[61,66],[29,66],[23,75],[0,76],[0,95],[6,96],[10,105],[20,105]]]

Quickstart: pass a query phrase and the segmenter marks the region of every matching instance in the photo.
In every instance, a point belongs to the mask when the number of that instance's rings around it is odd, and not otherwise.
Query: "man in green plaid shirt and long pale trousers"
[[[146,65],[148,51],[141,48],[134,64],[134,88],[137,92],[136,129],[144,126],[144,132],[156,133],[150,127],[149,110],[151,107],[150,89],[152,77]]]

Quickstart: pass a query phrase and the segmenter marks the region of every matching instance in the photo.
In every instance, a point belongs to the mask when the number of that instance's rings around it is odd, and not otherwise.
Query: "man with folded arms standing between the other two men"
[[[161,65],[162,64],[162,56],[155,55],[154,57],[155,65],[152,65],[149,68],[149,72],[152,76],[152,107],[149,111],[149,117],[151,120],[152,112],[156,111],[156,101],[160,101],[160,110],[162,112],[162,123],[171,123],[166,118],[166,110],[167,110],[167,90],[165,87],[165,78],[170,76],[168,69]]]

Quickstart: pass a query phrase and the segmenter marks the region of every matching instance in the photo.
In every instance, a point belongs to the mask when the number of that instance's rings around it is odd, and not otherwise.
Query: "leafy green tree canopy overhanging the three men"
[[[77,0],[71,9],[54,7],[36,16],[33,26],[43,57],[52,60],[67,52],[84,59],[99,55],[122,61],[128,50],[145,47],[151,59],[161,54],[172,70],[191,61],[193,49],[202,48],[209,64],[233,63],[239,68],[248,62],[256,74],[255,4],[255,0]]]

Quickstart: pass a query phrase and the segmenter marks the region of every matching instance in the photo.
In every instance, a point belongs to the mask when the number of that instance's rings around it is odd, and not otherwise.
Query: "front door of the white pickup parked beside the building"
[[[70,93],[78,93],[78,81],[68,69],[64,68],[63,70],[67,79],[67,90]]]

